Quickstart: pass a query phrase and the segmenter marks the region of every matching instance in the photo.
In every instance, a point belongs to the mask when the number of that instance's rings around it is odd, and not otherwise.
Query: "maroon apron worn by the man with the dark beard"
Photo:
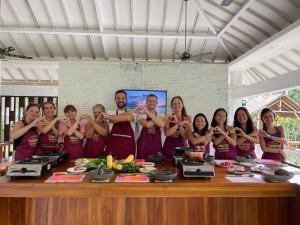
[[[118,159],[135,155],[134,131],[129,121],[114,123],[108,135],[106,151],[113,153]]]

